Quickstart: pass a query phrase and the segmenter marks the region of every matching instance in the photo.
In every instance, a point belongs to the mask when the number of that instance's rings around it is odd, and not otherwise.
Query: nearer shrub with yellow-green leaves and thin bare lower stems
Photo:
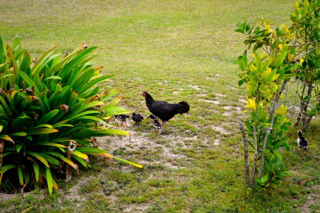
[[[282,91],[293,76],[299,65],[292,61],[295,48],[287,44],[287,40],[294,35],[283,25],[279,28],[270,29],[271,21],[261,19],[261,24],[250,27],[244,23],[238,23],[237,32],[249,36],[245,44],[253,46],[253,60],[248,63],[247,51],[236,63],[241,69],[238,82],[239,86],[246,85],[247,108],[249,120],[245,121],[244,130],[241,121],[239,127],[242,131],[245,147],[245,181],[246,185],[252,186],[258,183],[263,186],[276,188],[279,181],[289,175],[284,168],[279,147],[289,150],[286,143],[288,139],[284,133],[291,125],[285,117],[287,107],[278,106],[278,101],[283,98]],[[263,51],[259,54],[258,51]],[[246,135],[247,133],[247,135]],[[248,144],[254,149],[251,176],[249,177]],[[260,165],[259,170],[257,169]]]

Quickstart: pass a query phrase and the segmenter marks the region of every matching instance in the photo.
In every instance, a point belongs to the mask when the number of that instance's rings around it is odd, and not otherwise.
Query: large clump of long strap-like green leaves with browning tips
[[[52,193],[64,165],[69,181],[71,168],[90,167],[87,154],[113,160],[92,137],[129,135],[107,128],[111,116],[130,111],[116,106],[119,90],[95,86],[113,76],[92,67],[97,47],[81,45],[62,59],[56,48],[31,60],[18,37],[12,48],[0,37],[0,183],[22,191],[46,180]]]

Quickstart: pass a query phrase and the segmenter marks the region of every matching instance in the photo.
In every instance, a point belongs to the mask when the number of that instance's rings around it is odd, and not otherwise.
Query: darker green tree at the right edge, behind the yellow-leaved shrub
[[[299,108],[295,126],[298,126],[301,121],[302,130],[308,128],[314,115],[320,114],[318,86],[320,80],[319,6],[320,1],[296,2],[295,11],[290,15],[292,21],[290,30],[294,39],[288,42],[296,48],[295,58],[301,65],[296,71],[296,79],[292,81],[297,84],[295,98],[298,101],[298,104],[294,104],[292,109]],[[300,90],[298,90],[299,86]]]

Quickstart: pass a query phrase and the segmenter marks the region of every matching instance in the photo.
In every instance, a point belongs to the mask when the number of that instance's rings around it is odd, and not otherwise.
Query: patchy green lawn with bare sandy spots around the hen
[[[121,89],[120,103],[148,115],[140,93],[170,103],[187,101],[190,114],[175,116],[157,136],[151,121],[121,128],[128,137],[99,139],[111,154],[144,165],[117,162],[112,169],[91,158],[87,173],[47,196],[0,193],[1,212],[308,212],[320,210],[319,128],[310,124],[310,150],[298,155],[290,130],[283,152],[292,176],[278,189],[244,187],[243,145],[237,119],[244,116],[244,92],[237,66],[245,49],[237,22],[273,20],[290,24],[294,1],[3,1],[0,36],[15,35],[32,58],[59,44],[64,56],[81,43],[99,46],[96,66],[116,74],[103,88]],[[275,27],[276,28],[276,27]],[[307,180],[299,184],[299,180]],[[308,197],[311,197],[308,199]],[[297,204],[298,208],[293,209]]]

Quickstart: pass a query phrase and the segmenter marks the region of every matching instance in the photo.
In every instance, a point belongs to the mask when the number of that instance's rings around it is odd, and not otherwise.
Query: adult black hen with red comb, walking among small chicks
[[[190,105],[185,101],[181,101],[178,104],[169,104],[166,101],[155,101],[146,91],[143,91],[141,95],[146,98],[146,105],[149,111],[162,120],[162,129],[164,124],[174,115],[187,113],[190,109]]]

